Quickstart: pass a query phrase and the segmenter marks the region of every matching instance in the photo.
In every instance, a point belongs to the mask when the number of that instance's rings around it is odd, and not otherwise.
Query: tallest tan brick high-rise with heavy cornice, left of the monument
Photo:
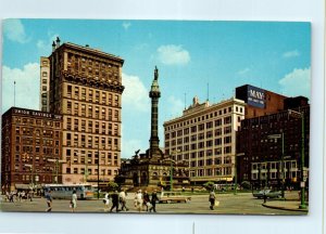
[[[63,183],[108,182],[121,160],[121,57],[73,43],[52,44],[50,112],[63,116]]]

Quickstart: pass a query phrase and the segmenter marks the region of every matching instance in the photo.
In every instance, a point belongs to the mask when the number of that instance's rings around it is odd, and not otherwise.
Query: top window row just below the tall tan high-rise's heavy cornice
[[[109,106],[120,106],[121,99],[118,94],[108,91],[100,91],[91,88],[67,84],[66,96],[74,100],[87,101],[90,103],[100,103]]]

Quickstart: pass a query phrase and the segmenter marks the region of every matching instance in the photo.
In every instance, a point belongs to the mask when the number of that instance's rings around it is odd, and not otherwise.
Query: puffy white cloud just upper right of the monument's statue
[[[181,46],[167,44],[158,49],[159,60],[166,65],[187,64],[190,62],[190,54]]]

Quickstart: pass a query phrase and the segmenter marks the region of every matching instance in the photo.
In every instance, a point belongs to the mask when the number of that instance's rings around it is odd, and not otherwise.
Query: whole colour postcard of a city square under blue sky
[[[306,214],[311,24],[3,22],[1,210]]]

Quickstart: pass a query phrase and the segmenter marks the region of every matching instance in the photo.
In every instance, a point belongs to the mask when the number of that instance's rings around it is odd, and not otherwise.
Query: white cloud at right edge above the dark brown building
[[[311,96],[311,68],[294,68],[281,78],[278,83],[287,96]]]

